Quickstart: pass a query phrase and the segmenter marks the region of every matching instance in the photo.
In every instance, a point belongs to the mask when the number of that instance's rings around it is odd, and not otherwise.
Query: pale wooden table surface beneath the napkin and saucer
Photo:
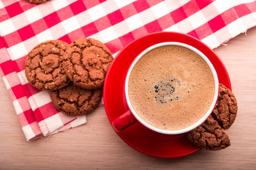
[[[80,127],[26,142],[12,101],[0,78],[0,169],[256,169],[256,28],[215,52],[230,75],[239,110],[226,130],[231,146],[201,150],[179,159],[158,159],[129,147],[114,132],[104,108]]]

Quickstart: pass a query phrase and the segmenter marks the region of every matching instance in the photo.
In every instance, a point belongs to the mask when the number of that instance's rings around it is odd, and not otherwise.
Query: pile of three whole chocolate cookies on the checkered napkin
[[[57,109],[83,115],[99,105],[112,60],[111,51],[98,40],[81,38],[70,45],[50,40],[29,52],[25,74],[35,88],[50,91]]]

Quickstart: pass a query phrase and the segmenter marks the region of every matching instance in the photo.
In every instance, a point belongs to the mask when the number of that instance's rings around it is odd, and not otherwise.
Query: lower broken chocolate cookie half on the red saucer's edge
[[[230,146],[229,136],[212,116],[197,128],[187,133],[188,139],[196,146],[206,150],[221,150]]]

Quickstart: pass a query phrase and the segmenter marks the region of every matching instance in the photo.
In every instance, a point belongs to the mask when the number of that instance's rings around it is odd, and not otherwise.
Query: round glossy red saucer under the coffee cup
[[[125,76],[135,57],[151,45],[168,41],[183,42],[204,53],[215,67],[219,82],[231,89],[230,79],[221,59],[200,40],[176,32],[148,34],[128,44],[119,52],[108,69],[104,83],[103,99],[110,122],[125,113],[125,111],[128,111],[124,93]],[[200,148],[195,147],[183,134],[160,134],[149,130],[139,122],[116,133],[130,147],[149,156],[177,158],[200,150]]]

